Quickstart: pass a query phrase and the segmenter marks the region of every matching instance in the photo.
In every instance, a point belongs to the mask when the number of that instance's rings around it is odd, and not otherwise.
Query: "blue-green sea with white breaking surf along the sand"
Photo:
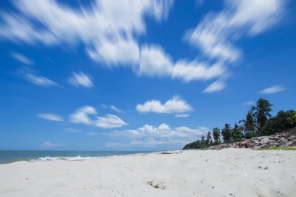
[[[0,164],[13,162],[46,162],[55,160],[86,160],[123,155],[137,155],[155,151],[0,151]]]

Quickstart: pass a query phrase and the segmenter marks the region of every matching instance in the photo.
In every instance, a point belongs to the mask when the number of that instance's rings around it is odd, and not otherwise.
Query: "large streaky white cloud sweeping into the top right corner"
[[[225,0],[222,12],[208,14],[184,39],[209,58],[234,62],[242,50],[234,42],[243,35],[263,33],[276,25],[284,13],[285,0]]]

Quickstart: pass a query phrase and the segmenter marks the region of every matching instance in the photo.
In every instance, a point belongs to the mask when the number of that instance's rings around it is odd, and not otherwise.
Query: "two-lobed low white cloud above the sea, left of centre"
[[[89,115],[96,115],[96,114],[97,114],[96,109],[87,105],[87,106],[80,107],[73,114],[70,114],[69,119],[71,123],[84,124],[84,125],[99,127],[103,129],[119,128],[119,127],[128,125],[119,117],[111,114],[107,114],[106,116],[103,116],[103,117],[95,116],[95,119],[89,117]]]

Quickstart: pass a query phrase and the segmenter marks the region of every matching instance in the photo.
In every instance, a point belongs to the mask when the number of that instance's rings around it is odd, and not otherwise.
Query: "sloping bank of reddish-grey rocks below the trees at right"
[[[224,148],[271,148],[271,147],[291,147],[296,146],[296,135],[290,133],[277,134],[273,136],[256,137],[252,139],[242,139],[240,142],[234,142],[230,144],[222,144],[217,146],[211,146],[209,150],[221,150]]]

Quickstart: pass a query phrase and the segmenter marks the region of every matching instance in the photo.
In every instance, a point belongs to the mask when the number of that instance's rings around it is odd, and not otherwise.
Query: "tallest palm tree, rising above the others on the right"
[[[254,115],[257,119],[258,126],[262,129],[268,119],[268,117],[271,117],[271,114],[269,112],[272,111],[271,107],[273,104],[271,104],[268,100],[259,98],[257,100],[257,106],[252,106],[252,111],[254,112]]]

